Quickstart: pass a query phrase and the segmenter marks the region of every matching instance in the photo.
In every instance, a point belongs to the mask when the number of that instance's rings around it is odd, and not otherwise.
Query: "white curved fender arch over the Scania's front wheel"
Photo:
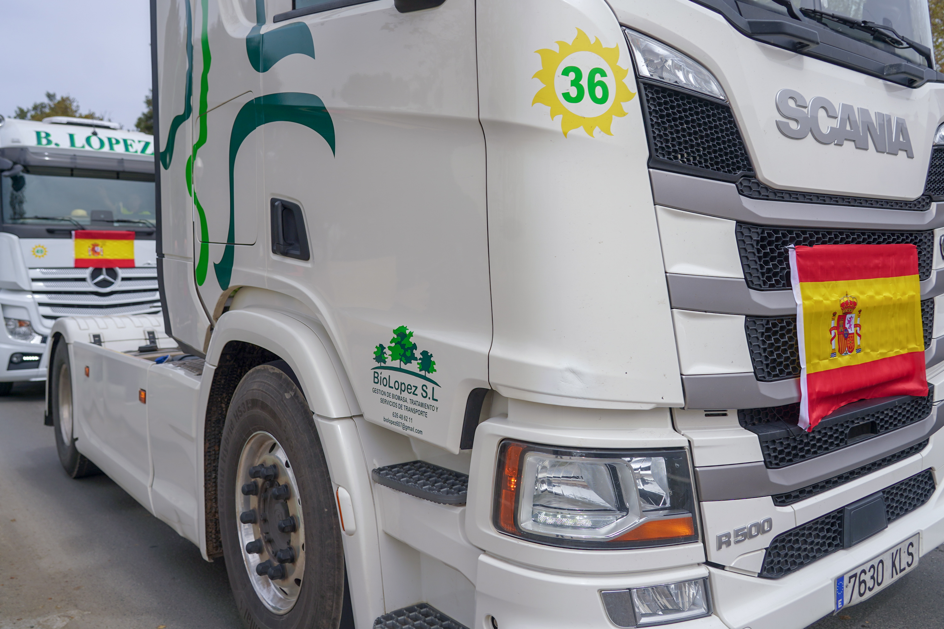
[[[359,415],[361,409],[328,332],[320,324],[312,323],[259,306],[229,310],[213,330],[207,362],[216,367],[230,340],[258,345],[289,364],[301,382],[312,412],[327,418]],[[315,326],[321,329],[313,329]]]

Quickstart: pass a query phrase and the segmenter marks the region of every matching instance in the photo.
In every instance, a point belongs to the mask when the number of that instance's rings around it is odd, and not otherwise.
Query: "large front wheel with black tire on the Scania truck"
[[[302,392],[272,365],[250,370],[233,393],[216,495],[246,627],[337,629],[345,556],[328,463]]]

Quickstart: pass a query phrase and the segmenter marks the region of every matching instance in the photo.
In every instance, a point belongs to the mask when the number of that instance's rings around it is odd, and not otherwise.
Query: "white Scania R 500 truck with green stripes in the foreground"
[[[925,0],[152,24],[164,317],[57,321],[47,422],[247,627],[800,629],[944,542]],[[787,246],[901,242],[931,392],[804,432]]]

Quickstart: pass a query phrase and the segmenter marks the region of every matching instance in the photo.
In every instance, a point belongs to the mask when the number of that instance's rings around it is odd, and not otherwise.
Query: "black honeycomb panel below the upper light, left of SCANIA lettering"
[[[652,157],[716,173],[750,173],[731,108],[684,91],[640,81]]]

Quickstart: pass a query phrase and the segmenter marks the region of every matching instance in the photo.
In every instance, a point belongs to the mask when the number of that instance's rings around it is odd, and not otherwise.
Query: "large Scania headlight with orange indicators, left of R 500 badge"
[[[503,441],[493,519],[516,538],[573,548],[696,541],[688,453],[565,450]]]

